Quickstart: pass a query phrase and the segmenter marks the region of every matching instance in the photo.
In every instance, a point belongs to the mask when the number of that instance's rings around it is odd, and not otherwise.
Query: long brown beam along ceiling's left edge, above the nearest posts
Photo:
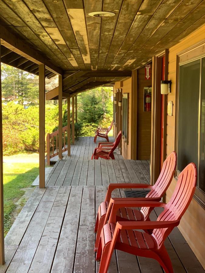
[[[35,49],[32,49],[29,44],[22,41],[22,39],[18,38],[18,36],[9,32],[3,25],[0,25],[0,37],[2,45],[6,48],[25,57],[26,59],[29,59],[32,62],[37,64],[45,64],[46,69],[58,75],[62,75],[62,69],[55,66],[49,59],[39,54]]]

